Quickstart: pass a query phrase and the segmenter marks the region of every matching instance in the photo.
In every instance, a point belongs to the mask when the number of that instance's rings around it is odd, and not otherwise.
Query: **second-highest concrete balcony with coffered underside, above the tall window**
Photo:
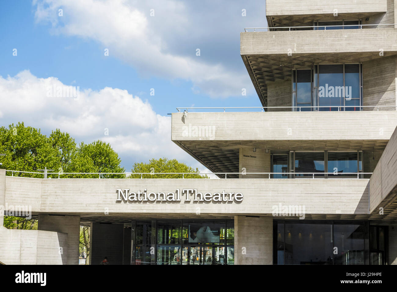
[[[364,77],[371,75],[364,78],[365,97],[365,90],[376,87],[371,80],[383,74],[371,69],[378,63],[385,70],[389,66],[395,77],[397,29],[245,32],[240,35],[240,50],[263,106],[268,105],[269,83],[290,81],[292,69],[312,68],[314,63],[363,63]],[[385,86],[390,90],[393,85]]]

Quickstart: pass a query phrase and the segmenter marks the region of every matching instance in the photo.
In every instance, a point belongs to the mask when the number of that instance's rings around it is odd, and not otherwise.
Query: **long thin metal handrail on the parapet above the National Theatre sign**
[[[32,171],[19,171],[19,170],[6,170],[6,172],[11,172],[12,177],[15,173],[33,173],[33,174],[40,174],[43,175],[41,172],[32,172]],[[351,173],[334,173],[334,172],[206,172],[206,173],[191,173],[191,172],[156,172],[156,173],[150,173],[150,172],[59,172],[59,173],[47,173],[47,175],[58,175],[58,179],[60,179],[60,175],[69,175],[69,174],[89,174],[89,175],[99,175],[98,179],[100,179],[100,175],[141,175],[141,179],[143,178],[143,175],[172,175],[172,174],[180,174],[183,175],[182,178],[184,178],[184,175],[209,175],[209,174],[215,174],[215,175],[225,175],[225,179],[227,178],[227,175],[247,175],[247,174],[255,174],[255,175],[268,175],[269,179],[271,178],[271,175],[276,175],[276,174],[282,174],[282,175],[312,175],[313,178],[315,178],[315,175],[357,175],[357,178],[359,178],[359,175],[372,175],[372,172],[351,172]]]

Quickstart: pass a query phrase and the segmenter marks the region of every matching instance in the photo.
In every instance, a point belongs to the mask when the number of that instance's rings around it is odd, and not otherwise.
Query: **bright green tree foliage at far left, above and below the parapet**
[[[77,147],[75,140],[60,129],[52,131],[47,137],[40,129],[25,127],[24,123],[0,127],[1,168],[15,171],[40,172],[39,169],[53,169],[54,173],[123,173],[121,159],[110,144],[100,140],[90,144],[81,142]],[[7,172],[7,175],[12,175]],[[13,173],[18,177],[43,178],[42,174]],[[64,174],[60,178],[98,178],[99,175]],[[125,175],[101,175],[101,178],[123,178]],[[48,178],[58,178],[58,174],[48,172]],[[34,219],[4,217],[4,226],[9,229],[37,229]]]

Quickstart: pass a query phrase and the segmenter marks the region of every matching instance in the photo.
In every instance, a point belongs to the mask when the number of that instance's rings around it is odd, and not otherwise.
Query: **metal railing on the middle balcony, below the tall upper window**
[[[261,109],[261,111],[265,111],[264,109],[269,109],[269,108],[290,108],[290,109],[296,109],[296,111],[301,111],[301,109],[318,109],[318,108],[329,108],[331,111],[331,108],[337,108],[337,111],[343,111],[341,108],[377,108],[379,111],[379,108],[395,108],[397,110],[397,106],[237,106],[237,107],[207,107],[207,108],[191,108],[191,107],[185,107],[185,108],[176,108],[177,111],[180,113],[181,110],[186,110],[188,112],[188,109],[223,109],[224,112],[226,109]],[[318,110],[315,110],[318,111]],[[336,110],[335,110],[336,111]],[[362,111],[362,110],[353,110],[353,111]],[[351,111],[347,111],[351,112]]]

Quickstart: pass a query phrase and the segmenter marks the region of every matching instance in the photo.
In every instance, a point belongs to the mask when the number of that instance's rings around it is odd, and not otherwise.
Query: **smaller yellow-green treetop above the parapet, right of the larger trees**
[[[149,163],[134,163],[132,173],[188,173],[183,175],[185,179],[208,179],[207,175],[200,175],[198,168],[187,166],[185,163],[178,162],[176,159],[150,159]],[[140,174],[131,174],[131,179],[141,178]],[[144,179],[181,179],[181,174],[145,174]]]

